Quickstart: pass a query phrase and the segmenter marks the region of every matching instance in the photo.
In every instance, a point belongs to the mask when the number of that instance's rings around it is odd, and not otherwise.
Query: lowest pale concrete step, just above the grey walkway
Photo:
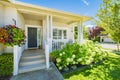
[[[35,70],[40,70],[40,69],[45,69],[45,68],[46,68],[45,63],[37,63],[37,64],[32,64],[32,65],[19,66],[18,73],[25,73],[25,72],[30,72],[30,71],[35,71]]]

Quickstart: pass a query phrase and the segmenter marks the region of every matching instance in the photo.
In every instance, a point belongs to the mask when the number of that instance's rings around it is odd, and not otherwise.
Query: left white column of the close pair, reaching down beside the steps
[[[49,16],[46,16],[46,42],[45,42],[46,68],[49,68]]]

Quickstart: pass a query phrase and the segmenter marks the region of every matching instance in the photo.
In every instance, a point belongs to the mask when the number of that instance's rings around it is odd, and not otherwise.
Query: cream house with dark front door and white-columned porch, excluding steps
[[[14,53],[14,75],[16,75],[21,57],[18,53],[40,47],[45,50],[48,68],[49,52],[60,49],[67,42],[73,43],[76,25],[78,26],[78,41],[82,43],[82,23],[91,18],[15,0],[0,0],[0,19],[0,27],[15,24],[25,31],[26,42],[20,49],[15,46],[0,45],[0,52]]]

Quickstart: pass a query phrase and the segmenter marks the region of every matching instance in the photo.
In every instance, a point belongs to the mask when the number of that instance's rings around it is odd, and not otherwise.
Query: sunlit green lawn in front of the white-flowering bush
[[[120,55],[109,53],[104,62],[63,76],[65,80],[120,80]]]

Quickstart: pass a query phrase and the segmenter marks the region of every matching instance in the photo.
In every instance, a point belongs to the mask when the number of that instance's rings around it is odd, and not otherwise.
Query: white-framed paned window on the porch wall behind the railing
[[[53,39],[67,39],[67,30],[53,29]]]

